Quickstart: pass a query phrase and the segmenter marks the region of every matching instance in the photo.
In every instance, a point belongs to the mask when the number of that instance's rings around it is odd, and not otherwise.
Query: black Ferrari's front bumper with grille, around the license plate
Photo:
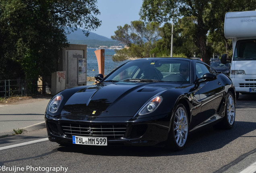
[[[161,145],[169,133],[170,116],[133,117],[49,116],[45,114],[48,139],[72,144],[72,135],[107,137],[108,145]],[[93,134],[90,133],[93,129]]]

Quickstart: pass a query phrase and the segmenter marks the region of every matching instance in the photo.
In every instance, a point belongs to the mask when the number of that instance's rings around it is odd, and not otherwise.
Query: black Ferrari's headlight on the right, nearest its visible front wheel
[[[157,107],[160,105],[160,103],[163,101],[163,97],[156,96],[153,99],[151,99],[139,112],[139,115],[145,115],[148,113],[154,112]]]

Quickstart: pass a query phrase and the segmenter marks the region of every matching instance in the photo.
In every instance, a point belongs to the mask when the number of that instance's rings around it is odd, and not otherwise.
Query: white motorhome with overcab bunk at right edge
[[[230,78],[239,93],[256,93],[256,11],[227,12],[224,34],[233,40],[233,57],[223,54],[223,64],[231,62]]]

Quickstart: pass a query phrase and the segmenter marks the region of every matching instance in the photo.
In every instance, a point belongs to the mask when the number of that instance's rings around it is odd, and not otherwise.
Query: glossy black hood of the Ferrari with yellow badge
[[[130,82],[93,85],[74,93],[66,101],[61,115],[132,117],[151,97],[176,86]]]

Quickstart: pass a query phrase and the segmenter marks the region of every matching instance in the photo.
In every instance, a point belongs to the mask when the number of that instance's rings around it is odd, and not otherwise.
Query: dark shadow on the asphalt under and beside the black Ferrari
[[[231,141],[244,136],[256,129],[256,123],[235,121],[231,130],[215,130],[213,127],[197,131],[189,135],[186,148],[182,151],[173,152],[164,147],[130,147],[130,146],[81,146],[59,147],[58,151],[70,153],[84,153],[86,155],[104,156],[137,156],[137,157],[156,157],[188,155],[203,153],[221,149]],[[241,144],[242,145],[242,144]]]

